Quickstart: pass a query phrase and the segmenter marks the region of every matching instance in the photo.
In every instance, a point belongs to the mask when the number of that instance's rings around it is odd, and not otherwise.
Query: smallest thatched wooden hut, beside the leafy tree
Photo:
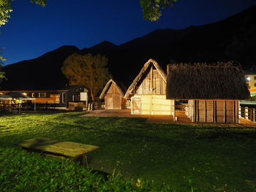
[[[126,91],[123,83],[109,80],[103,88],[99,99],[105,100],[105,110],[123,110],[126,108],[126,101],[124,93]]]

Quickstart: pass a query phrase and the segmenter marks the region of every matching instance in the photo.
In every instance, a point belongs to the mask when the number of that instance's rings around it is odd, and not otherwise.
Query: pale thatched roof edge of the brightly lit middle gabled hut
[[[135,77],[135,80],[133,80],[132,84],[129,85],[129,88],[127,89],[127,93],[125,93],[124,98],[128,98],[130,95],[132,95],[132,91],[135,89],[135,86],[138,84],[140,81],[141,77],[143,77],[143,74],[146,72],[149,66],[153,65],[156,69],[157,72],[161,75],[162,79],[166,82],[166,74],[162,70],[162,68],[157,64],[157,61],[154,61],[154,59],[150,58],[146,64],[144,64],[143,68],[140,70],[140,73]]]

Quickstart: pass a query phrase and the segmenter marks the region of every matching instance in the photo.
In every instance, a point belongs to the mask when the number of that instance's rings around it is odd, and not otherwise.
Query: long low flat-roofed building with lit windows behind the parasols
[[[82,85],[69,85],[65,88],[50,88],[40,90],[0,90],[0,94],[10,92],[23,93],[26,96],[34,98],[32,103],[36,104],[49,104],[59,109],[69,108],[70,102],[85,101],[85,95],[88,90]]]

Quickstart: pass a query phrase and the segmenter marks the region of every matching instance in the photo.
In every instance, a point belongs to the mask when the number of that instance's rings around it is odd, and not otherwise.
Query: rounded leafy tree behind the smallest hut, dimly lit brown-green
[[[111,74],[107,68],[108,58],[103,55],[70,55],[61,67],[62,73],[69,80],[69,85],[84,85],[89,88],[91,99],[102,90]]]

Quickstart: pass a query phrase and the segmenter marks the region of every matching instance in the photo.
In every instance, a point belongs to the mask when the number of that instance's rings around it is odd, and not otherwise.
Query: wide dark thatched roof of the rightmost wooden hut
[[[249,99],[237,62],[171,64],[167,69],[167,99]]]

